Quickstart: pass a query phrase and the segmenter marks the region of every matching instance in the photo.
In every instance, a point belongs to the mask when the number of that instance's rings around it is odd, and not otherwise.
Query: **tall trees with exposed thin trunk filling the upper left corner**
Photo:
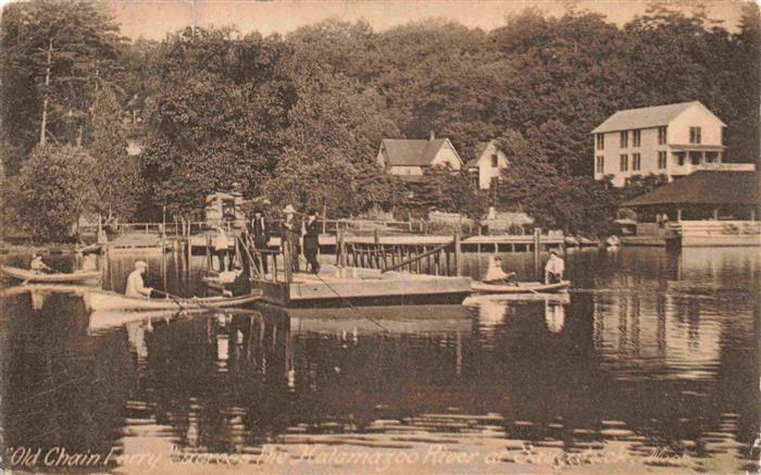
[[[3,163],[14,174],[37,143],[89,140],[92,96],[117,80],[122,38],[104,5],[82,0],[9,3],[0,32]]]

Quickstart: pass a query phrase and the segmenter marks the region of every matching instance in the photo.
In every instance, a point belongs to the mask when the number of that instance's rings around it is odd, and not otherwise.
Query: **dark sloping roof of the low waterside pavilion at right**
[[[754,204],[761,172],[699,171],[638,196],[622,207],[653,204]]]

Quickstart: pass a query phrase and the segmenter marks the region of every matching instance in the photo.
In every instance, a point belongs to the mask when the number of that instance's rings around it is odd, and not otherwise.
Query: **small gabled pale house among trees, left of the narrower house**
[[[436,138],[434,133],[427,140],[385,138],[380,141],[376,161],[386,173],[413,180],[432,166],[449,166],[454,171],[463,166],[452,142],[448,138]]]

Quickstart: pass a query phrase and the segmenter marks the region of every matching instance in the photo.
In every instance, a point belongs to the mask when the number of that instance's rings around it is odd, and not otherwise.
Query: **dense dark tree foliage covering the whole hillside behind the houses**
[[[234,183],[248,198],[336,216],[477,216],[484,197],[467,176],[434,171],[414,192],[378,170],[377,147],[436,130],[469,160],[477,141],[501,138],[512,165],[490,199],[541,226],[594,234],[622,199],[658,184],[635,179],[621,192],[591,180],[589,130],[615,110],[700,100],[727,124],[728,159],[758,160],[758,5],[725,26],[698,4],[684,13],[653,2],[623,27],[571,8],[561,17],[526,10],[489,33],[326,21],[285,38],[188,27],[125,45],[96,4],[12,3],[0,25],[2,161],[9,176],[21,170],[45,115],[45,137],[89,150],[102,171],[124,158],[127,137],[140,141],[138,163],[124,161],[140,183],[127,170],[100,191],[101,208],[123,202],[124,217],[127,188],[150,218],[164,205],[200,210]],[[92,179],[102,188],[107,176]]]

